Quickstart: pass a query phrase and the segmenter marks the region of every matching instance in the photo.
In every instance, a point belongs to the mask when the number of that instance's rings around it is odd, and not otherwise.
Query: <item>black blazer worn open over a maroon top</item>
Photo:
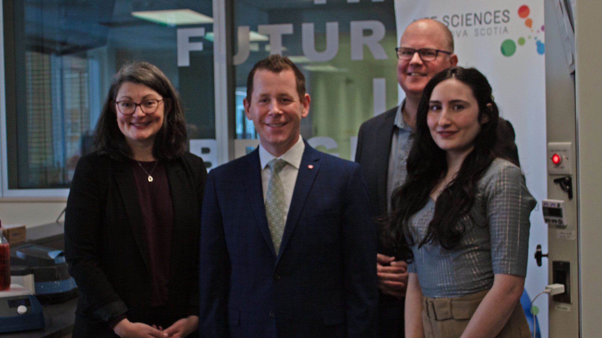
[[[174,218],[169,301],[164,318],[151,319],[145,229],[131,165],[98,153],[79,159],[65,215],[65,256],[81,291],[73,337],[113,336],[107,321],[126,312],[132,322],[168,327],[198,306],[200,206],[207,173],[202,159],[191,153],[167,162],[166,173]]]

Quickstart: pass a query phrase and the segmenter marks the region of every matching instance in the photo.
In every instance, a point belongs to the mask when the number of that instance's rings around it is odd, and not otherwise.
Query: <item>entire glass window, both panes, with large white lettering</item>
[[[234,146],[237,157],[237,149],[256,146],[242,100],[247,73],[269,54],[305,73],[312,102],[301,134],[318,150],[353,159],[361,123],[397,105],[393,0],[216,3],[232,8],[226,45],[234,73],[224,79],[214,79],[211,0],[4,0],[5,191],[69,188],[78,159],[92,149],[111,78],[131,61],[154,63],[171,79],[191,151],[208,168],[221,163],[216,149]],[[234,111],[220,111],[219,124],[234,119],[227,122],[234,143],[216,135],[215,83],[226,78],[234,93],[217,94]]]

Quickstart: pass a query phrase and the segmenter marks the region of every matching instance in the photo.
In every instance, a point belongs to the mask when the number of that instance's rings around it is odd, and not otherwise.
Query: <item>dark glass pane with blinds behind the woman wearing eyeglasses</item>
[[[68,188],[113,74],[160,67],[191,139],[215,139],[211,0],[3,1],[8,189]]]

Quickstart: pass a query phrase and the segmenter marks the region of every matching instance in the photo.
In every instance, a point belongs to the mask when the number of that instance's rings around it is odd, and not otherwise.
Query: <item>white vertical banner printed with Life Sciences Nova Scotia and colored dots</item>
[[[500,115],[516,132],[521,167],[529,191],[547,197],[545,136],[544,2],[535,0],[395,0],[397,41],[414,20],[430,17],[452,31],[458,66],[482,72],[493,88]],[[547,262],[533,259],[541,244],[547,252],[547,225],[541,209],[531,214],[525,289],[535,297],[548,284]],[[548,300],[541,297],[538,324],[548,337]]]

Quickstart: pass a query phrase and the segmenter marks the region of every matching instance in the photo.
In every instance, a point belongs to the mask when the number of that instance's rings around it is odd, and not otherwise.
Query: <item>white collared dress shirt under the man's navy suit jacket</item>
[[[303,138],[299,135],[299,140],[295,143],[291,149],[288,149],[287,152],[282,154],[282,156],[276,157],[270,154],[264,147],[259,144],[259,162],[261,162],[261,185],[263,187],[264,192],[264,203],[265,197],[267,195],[267,187],[270,183],[270,176],[272,176],[272,169],[267,165],[268,162],[272,161],[272,159],[284,159],[287,161],[287,165],[282,168],[278,176],[282,180],[282,185],[284,185],[284,214],[286,215],[284,218],[284,223],[287,222],[288,217],[288,209],[291,205],[291,200],[293,199],[293,191],[295,189],[295,183],[297,182],[297,174],[299,174],[299,166],[301,165],[301,158],[303,157],[303,152],[305,151],[305,143],[303,143]]]

